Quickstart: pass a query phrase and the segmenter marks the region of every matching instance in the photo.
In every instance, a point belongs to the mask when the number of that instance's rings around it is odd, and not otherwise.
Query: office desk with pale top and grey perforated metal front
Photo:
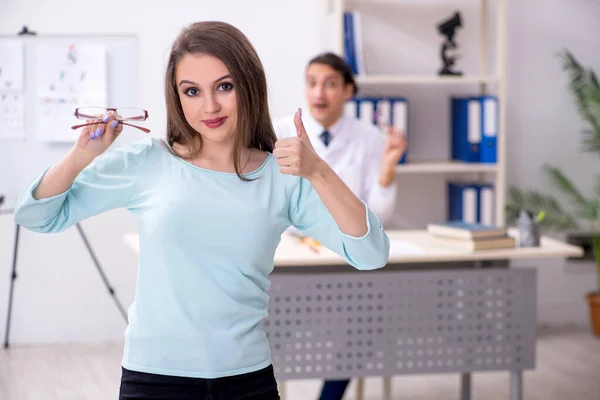
[[[466,400],[473,372],[509,371],[510,398],[521,399],[522,371],[535,367],[536,269],[510,262],[583,250],[543,237],[536,248],[464,252],[426,231],[388,235],[389,263],[375,271],[282,238],[264,321],[278,380],[357,377],[360,398],[363,377],[383,376],[389,399],[391,376],[453,372]],[[125,241],[139,250],[137,235]]]

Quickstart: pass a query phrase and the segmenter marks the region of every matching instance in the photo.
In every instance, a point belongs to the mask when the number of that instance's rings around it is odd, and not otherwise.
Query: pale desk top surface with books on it
[[[389,263],[429,263],[444,261],[517,260],[531,258],[581,257],[583,249],[556,239],[542,237],[539,247],[515,247],[502,250],[467,252],[436,246],[434,238],[424,230],[390,230]],[[515,229],[509,234],[516,237]],[[125,235],[125,243],[137,254],[137,233]],[[275,252],[275,266],[345,265],[346,261],[331,250],[321,246],[315,253],[297,239],[283,235]]]

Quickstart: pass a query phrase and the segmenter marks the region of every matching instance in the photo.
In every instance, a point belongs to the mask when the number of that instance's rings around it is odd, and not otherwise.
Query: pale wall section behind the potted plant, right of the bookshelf
[[[600,162],[597,155],[580,152],[584,124],[556,53],[567,48],[586,68],[600,73],[600,3],[524,0],[509,10],[508,182],[556,194],[541,174],[542,164],[549,163],[591,195]],[[537,265],[540,320],[587,324],[583,296],[595,287],[593,264],[553,260]]]

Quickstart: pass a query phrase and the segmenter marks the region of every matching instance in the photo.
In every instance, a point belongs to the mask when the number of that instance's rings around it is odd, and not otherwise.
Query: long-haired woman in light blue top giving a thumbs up
[[[385,265],[377,217],[297,136],[276,142],[263,67],[233,26],[201,22],[175,40],[165,79],[166,141],[107,148],[109,113],[23,192],[15,221],[58,232],[125,207],[140,260],[125,334],[121,399],[278,399],[268,275],[295,226],[358,269]]]

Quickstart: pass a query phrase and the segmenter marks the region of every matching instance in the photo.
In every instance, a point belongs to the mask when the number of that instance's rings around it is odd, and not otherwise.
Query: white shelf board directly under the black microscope
[[[494,84],[498,77],[494,75],[358,75],[356,82],[359,85],[369,84]]]

